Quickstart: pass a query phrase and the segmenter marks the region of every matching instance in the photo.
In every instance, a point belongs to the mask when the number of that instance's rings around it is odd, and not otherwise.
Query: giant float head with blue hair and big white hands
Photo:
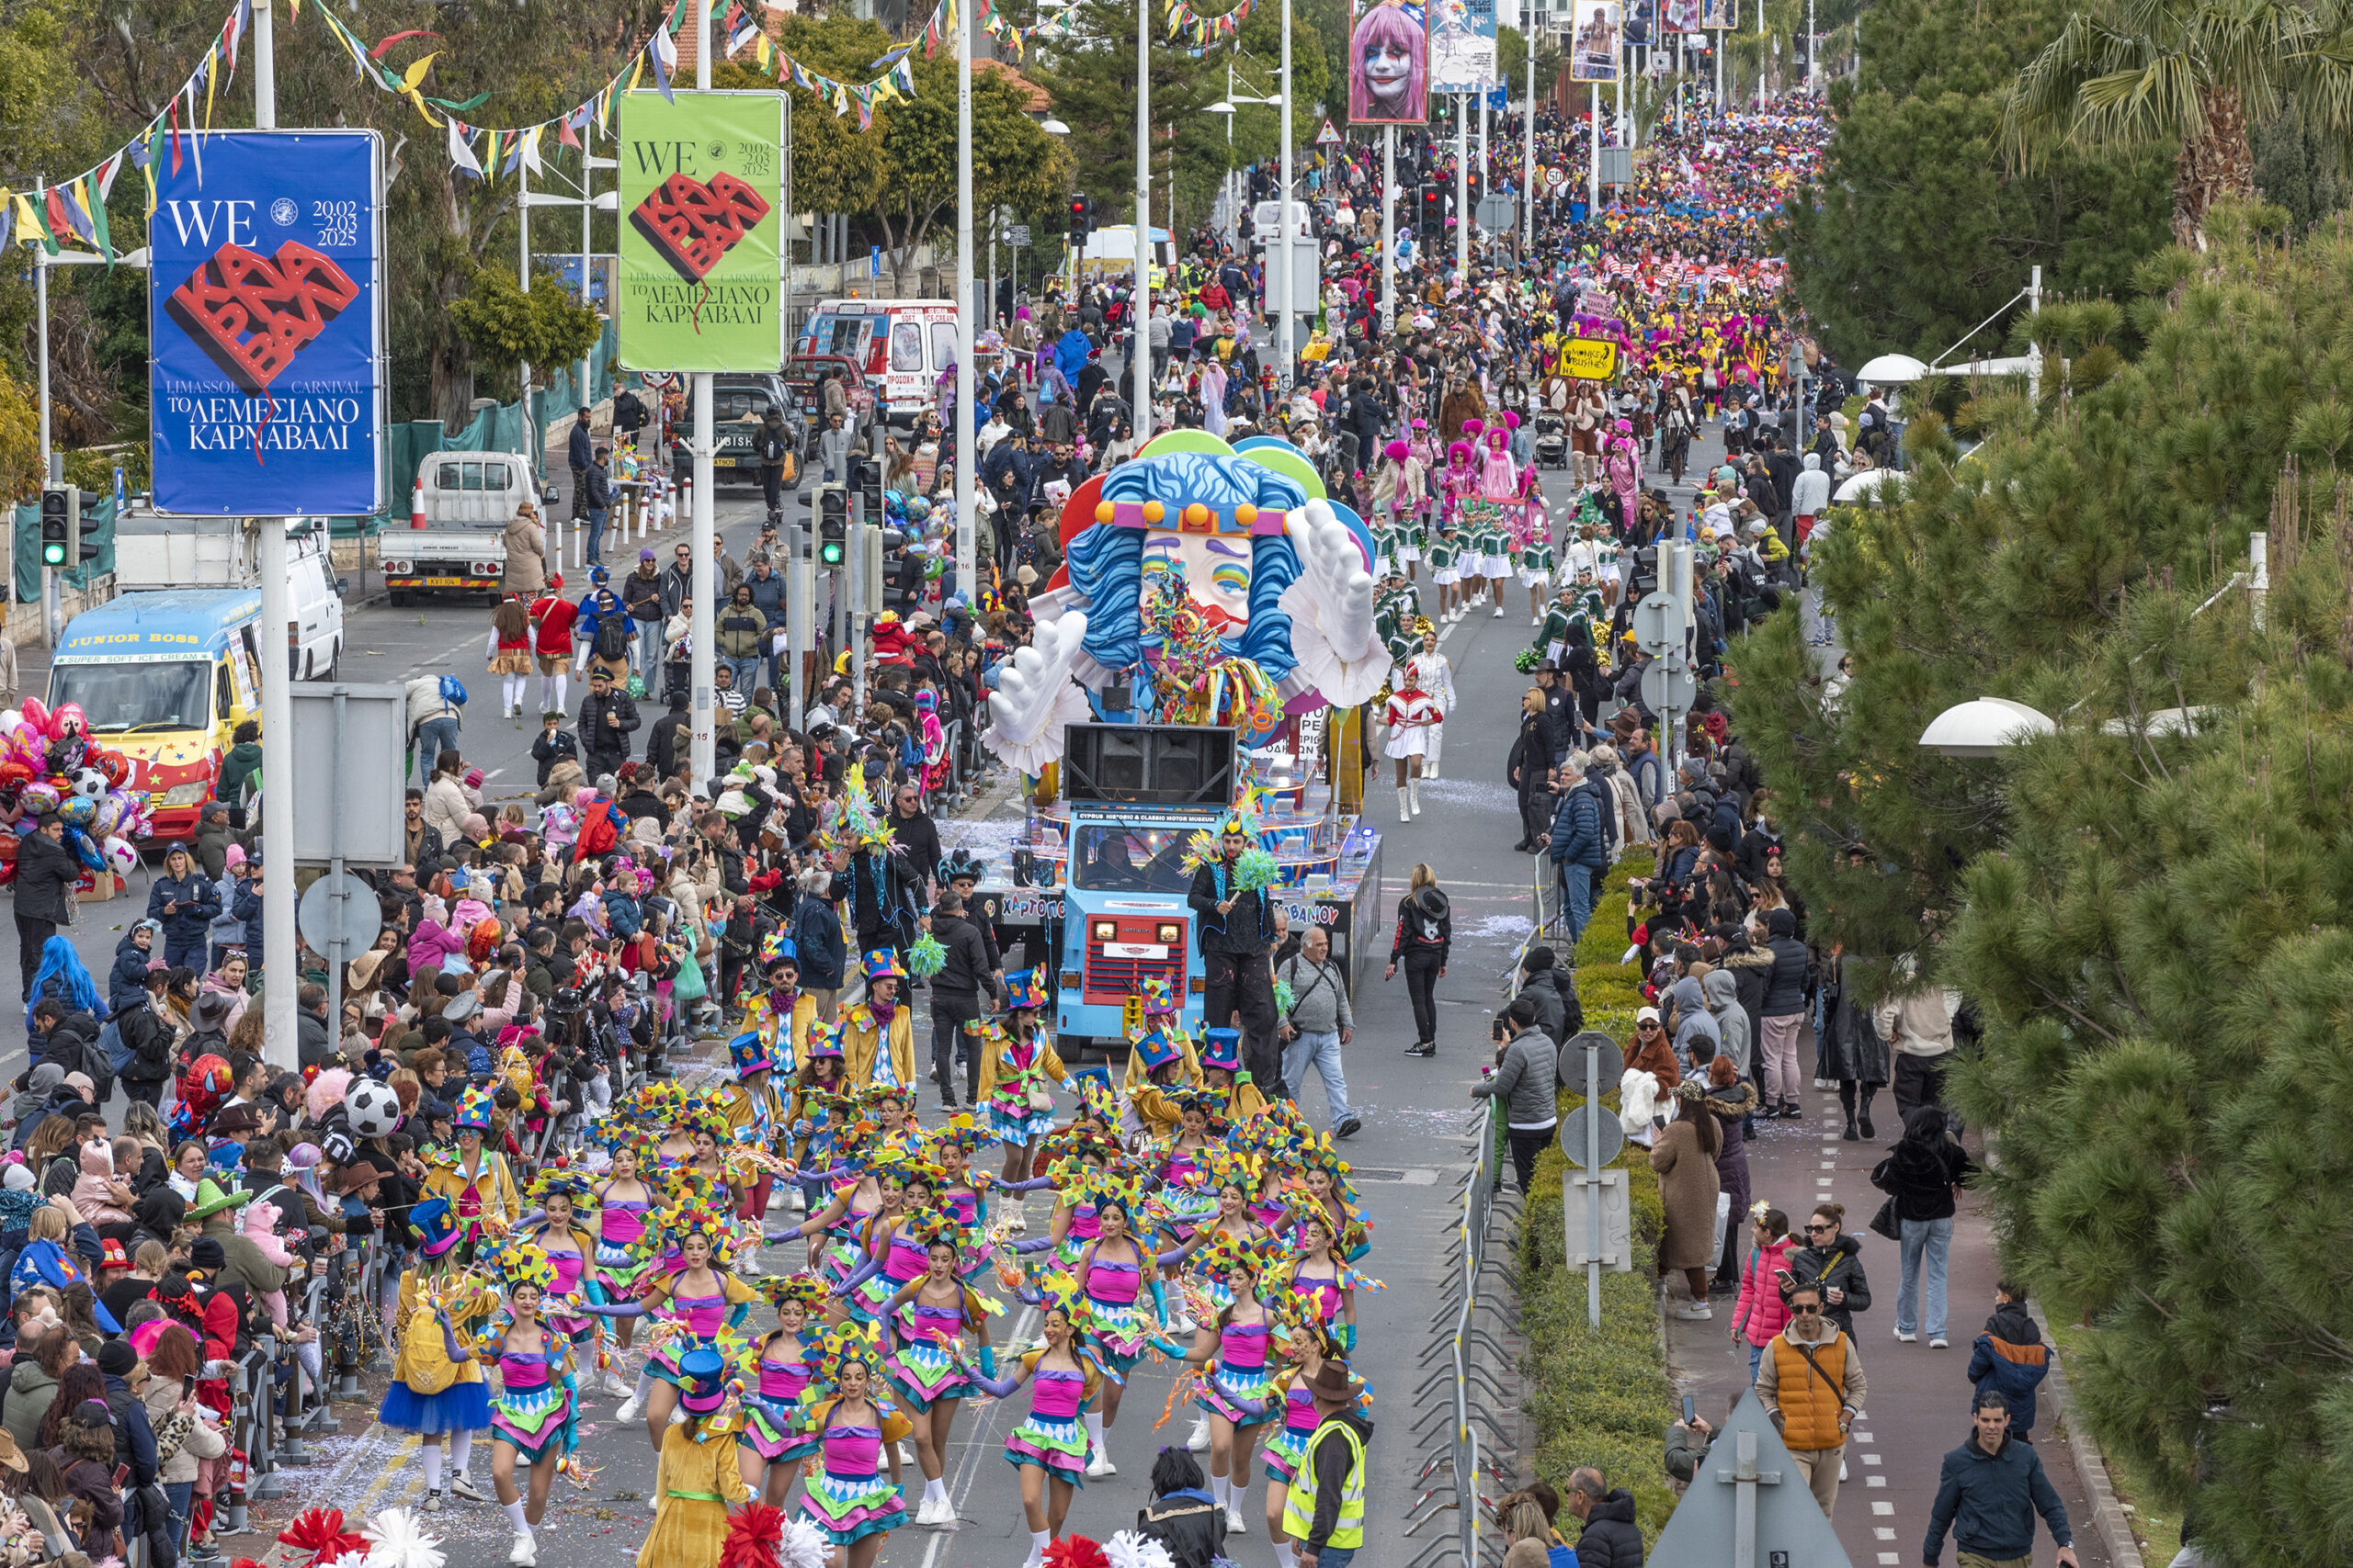
[[[1287,442],[1172,430],[1078,487],[1061,543],[984,733],[1024,771],[1061,757],[1061,726],[1096,717],[1089,693],[1122,679],[1141,722],[1257,741],[1285,712],[1362,703],[1388,675],[1372,536]]]

